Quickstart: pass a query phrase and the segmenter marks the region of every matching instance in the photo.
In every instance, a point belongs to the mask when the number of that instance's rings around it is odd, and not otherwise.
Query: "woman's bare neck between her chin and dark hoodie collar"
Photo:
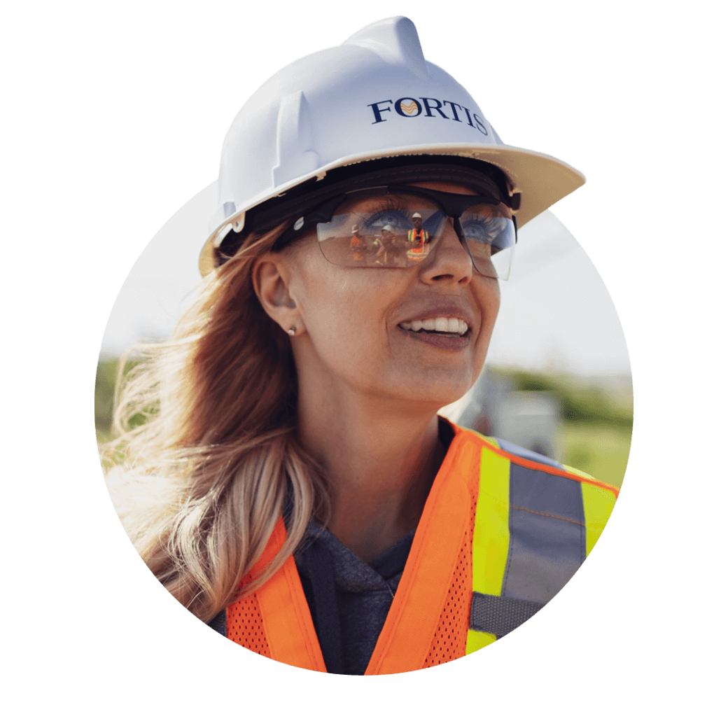
[[[299,390],[300,391],[300,390]],[[299,397],[299,434],[333,486],[329,530],[371,563],[414,530],[445,457],[437,411],[413,403]]]

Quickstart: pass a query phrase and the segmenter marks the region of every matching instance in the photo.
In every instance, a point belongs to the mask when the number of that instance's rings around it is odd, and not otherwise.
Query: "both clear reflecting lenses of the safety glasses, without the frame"
[[[348,206],[349,203],[347,203]],[[387,196],[359,210],[336,210],[319,223],[318,240],[326,260],[345,267],[408,268],[432,253],[445,232],[446,215],[427,199]],[[361,208],[368,208],[365,212]],[[507,280],[515,245],[515,227],[505,205],[480,203],[459,218],[475,268],[482,275]]]

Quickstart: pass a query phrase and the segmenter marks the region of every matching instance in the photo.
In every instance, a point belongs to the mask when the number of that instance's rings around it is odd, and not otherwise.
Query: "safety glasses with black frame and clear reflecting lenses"
[[[508,280],[517,228],[494,197],[387,185],[339,194],[299,217],[276,249],[316,226],[323,256],[347,268],[410,268],[437,248],[448,218],[483,276]]]

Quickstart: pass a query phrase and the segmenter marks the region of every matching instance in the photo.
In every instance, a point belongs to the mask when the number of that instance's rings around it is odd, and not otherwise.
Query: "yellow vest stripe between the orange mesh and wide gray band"
[[[510,460],[482,448],[480,492],[472,534],[472,590],[481,594],[501,596],[510,545],[509,486]],[[465,654],[483,649],[494,641],[495,635],[468,630]]]

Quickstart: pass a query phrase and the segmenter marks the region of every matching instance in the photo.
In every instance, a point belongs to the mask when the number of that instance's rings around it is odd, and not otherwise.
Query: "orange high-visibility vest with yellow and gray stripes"
[[[452,427],[365,675],[441,665],[518,628],[574,576],[617,501],[617,488],[579,470]],[[280,518],[244,583],[284,539]],[[326,672],[293,556],[228,606],[226,622],[227,637],[251,651]]]

